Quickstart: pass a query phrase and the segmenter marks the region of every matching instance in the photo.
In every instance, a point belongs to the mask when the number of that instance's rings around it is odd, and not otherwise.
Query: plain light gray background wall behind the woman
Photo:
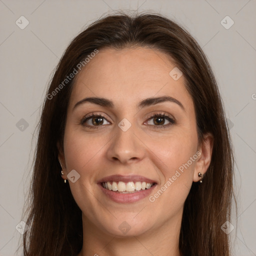
[[[255,0],[0,0],[0,255],[13,255],[22,238],[15,226],[22,220],[34,130],[50,74],[85,25],[116,9],[152,10],[173,18],[206,53],[229,118],[237,164],[232,255],[256,255]],[[15,23],[21,23],[21,15],[29,21],[24,29]],[[221,24],[226,15],[234,21],[229,29]]]

